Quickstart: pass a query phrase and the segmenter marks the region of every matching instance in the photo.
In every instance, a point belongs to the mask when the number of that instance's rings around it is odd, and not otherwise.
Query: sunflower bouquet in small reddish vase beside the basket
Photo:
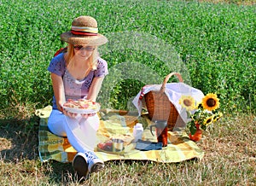
[[[187,111],[189,137],[194,141],[200,140],[197,137],[193,138],[194,135],[201,135],[201,130],[206,131],[208,126],[218,121],[223,115],[217,111],[219,99],[216,94],[207,94],[201,99],[201,102],[195,102],[192,96],[181,96],[179,104]]]

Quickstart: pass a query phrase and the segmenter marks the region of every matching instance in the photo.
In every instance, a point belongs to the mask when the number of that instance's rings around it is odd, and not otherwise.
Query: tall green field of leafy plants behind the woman
[[[205,94],[217,93],[224,110],[255,112],[255,6],[178,1],[7,1],[1,3],[0,9],[4,13],[0,15],[3,113],[17,104],[37,108],[50,104],[52,89],[46,69],[55,51],[65,46],[60,34],[67,32],[79,15],[96,17],[100,32],[108,36],[109,46],[102,57],[111,72],[119,63],[131,61],[148,67],[143,72],[145,77],[150,70],[162,77],[148,84],[161,84],[168,73],[178,71]],[[136,40],[137,33],[143,36]],[[154,38],[154,48],[146,50],[142,44],[150,46]],[[119,39],[124,40],[126,48],[119,49],[123,46],[116,44]],[[162,43],[179,55],[178,65],[172,58],[174,52],[163,50],[166,47]],[[109,77],[116,78],[113,73]],[[112,89],[108,108],[125,108],[126,100],[146,84],[139,79],[118,80],[102,89],[102,95],[109,87]],[[101,102],[104,105],[104,99]]]

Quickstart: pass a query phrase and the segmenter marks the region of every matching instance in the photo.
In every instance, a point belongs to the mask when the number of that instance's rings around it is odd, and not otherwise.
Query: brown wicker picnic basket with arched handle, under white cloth
[[[177,76],[179,82],[183,82],[180,73],[170,73],[164,79],[159,91],[149,91],[144,95],[148,109],[148,118],[151,120],[167,120],[168,131],[173,130],[178,117],[177,109],[165,93],[166,83],[173,75]]]

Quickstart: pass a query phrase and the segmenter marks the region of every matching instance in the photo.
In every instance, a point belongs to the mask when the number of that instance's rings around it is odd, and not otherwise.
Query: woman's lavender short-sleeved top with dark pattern
[[[91,70],[84,79],[78,80],[68,73],[64,53],[61,53],[50,61],[48,71],[62,77],[66,100],[78,100],[88,95],[93,78],[108,74],[108,63],[98,57],[96,70]],[[53,96],[53,109],[57,109],[55,96]]]

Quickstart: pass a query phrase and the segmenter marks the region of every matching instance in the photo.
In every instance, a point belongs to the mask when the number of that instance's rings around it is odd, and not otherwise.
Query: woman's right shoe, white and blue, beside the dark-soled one
[[[97,158],[96,154],[91,151],[85,153],[87,156],[89,166],[88,169],[90,172],[98,172],[104,168],[104,162]]]

